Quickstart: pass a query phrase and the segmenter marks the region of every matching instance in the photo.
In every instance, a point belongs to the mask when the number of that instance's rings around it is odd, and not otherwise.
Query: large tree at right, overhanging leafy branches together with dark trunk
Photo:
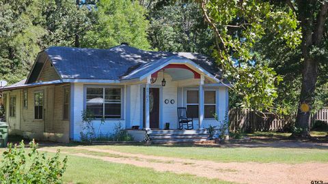
[[[308,133],[310,111],[302,110],[301,106],[308,106],[311,109],[315,106],[316,95],[327,96],[316,93],[315,89],[318,81],[322,82],[320,87],[327,88],[327,80],[325,77],[320,77],[320,71],[327,68],[328,2],[202,0],[200,4],[206,21],[215,31],[217,44],[215,57],[226,67],[228,76],[236,80],[235,91],[243,92],[246,87],[257,89],[254,92],[256,96],[260,95],[258,101],[247,97],[252,93],[244,94],[244,104],[254,108],[262,104],[270,110],[271,102],[273,103],[274,98],[278,97],[278,93],[275,85],[271,85],[272,82],[268,80],[272,81],[276,71],[286,74],[284,78],[287,80],[280,86],[285,90],[280,95],[286,94],[285,97],[289,96],[292,99],[289,102],[294,104],[294,108],[298,107],[296,126],[302,132],[299,136],[310,136]],[[266,44],[270,45],[271,50],[276,48],[273,53],[277,51],[280,55],[278,57],[272,55]],[[278,45],[281,47],[275,47]],[[284,50],[281,50],[282,48]],[[256,51],[262,54],[262,57],[256,59],[254,57]],[[271,57],[263,57],[266,53]],[[282,61],[282,59],[286,60]],[[234,66],[235,63],[238,63],[237,67]],[[291,70],[290,64],[294,66],[292,72],[288,72]],[[268,65],[276,71],[272,72]],[[254,75],[255,71],[252,70],[255,67],[263,69],[260,72],[262,76]],[[250,84],[244,82],[247,78],[251,80]],[[269,85],[259,89],[259,81]],[[295,96],[298,96],[298,99],[295,99]],[[250,103],[247,103],[247,99],[251,99]],[[274,107],[279,108],[278,104]],[[286,105],[288,100],[280,104]]]

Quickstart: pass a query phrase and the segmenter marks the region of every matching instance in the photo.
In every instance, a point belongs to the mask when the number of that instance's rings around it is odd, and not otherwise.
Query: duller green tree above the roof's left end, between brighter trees
[[[76,37],[83,37],[95,22],[92,7],[81,4],[77,8],[74,0],[46,0],[40,7],[41,18],[36,25],[46,30],[46,35],[42,37],[43,48],[79,46]]]

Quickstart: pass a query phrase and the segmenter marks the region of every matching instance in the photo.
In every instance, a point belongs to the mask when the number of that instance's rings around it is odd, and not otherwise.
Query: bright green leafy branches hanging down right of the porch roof
[[[223,67],[225,78],[233,82],[231,89],[243,97],[242,105],[258,111],[281,111],[274,102],[282,78],[267,63],[256,61],[254,44],[270,30],[294,48],[300,35],[295,16],[256,0],[203,0],[200,5],[215,33],[213,56]]]

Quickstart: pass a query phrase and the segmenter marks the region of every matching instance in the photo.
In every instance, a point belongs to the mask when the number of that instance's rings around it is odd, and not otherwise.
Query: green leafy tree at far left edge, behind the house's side
[[[46,35],[33,20],[40,8],[34,0],[0,1],[0,76],[13,83],[27,75],[40,50],[38,42]]]

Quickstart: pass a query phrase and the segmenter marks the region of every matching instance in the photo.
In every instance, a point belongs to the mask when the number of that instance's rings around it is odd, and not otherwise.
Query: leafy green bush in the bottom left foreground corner
[[[54,157],[37,151],[38,144],[29,143],[31,151],[25,153],[25,144],[8,144],[0,165],[0,183],[62,183],[67,157],[59,160],[59,150]]]

